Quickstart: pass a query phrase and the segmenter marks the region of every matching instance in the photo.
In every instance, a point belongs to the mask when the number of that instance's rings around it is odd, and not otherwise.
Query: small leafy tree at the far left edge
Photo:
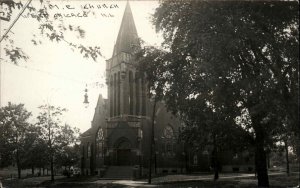
[[[31,113],[24,108],[24,104],[8,103],[0,109],[1,158],[10,159],[13,156],[18,168],[18,178],[21,178],[23,167],[24,146],[28,144],[30,126],[28,118]],[[8,156],[7,156],[8,155]],[[6,164],[7,165],[7,164]]]

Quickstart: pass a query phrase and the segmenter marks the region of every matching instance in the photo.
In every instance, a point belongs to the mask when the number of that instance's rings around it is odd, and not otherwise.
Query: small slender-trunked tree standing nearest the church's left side
[[[62,125],[62,115],[65,108],[51,105],[39,107],[41,112],[37,117],[37,125],[41,128],[41,137],[47,144],[48,161],[50,163],[51,181],[54,181],[54,163],[56,157],[61,157],[67,152],[70,146],[78,140],[78,129],[67,124]],[[75,157],[76,159],[76,157]],[[74,160],[75,160],[74,159]],[[73,159],[72,159],[73,160]]]

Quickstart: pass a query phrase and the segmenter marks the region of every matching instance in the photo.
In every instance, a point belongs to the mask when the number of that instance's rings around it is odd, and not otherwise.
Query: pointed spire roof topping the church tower
[[[134,46],[140,46],[138,34],[133,20],[130,4],[127,1],[120,26],[117,42],[114,47],[113,56],[120,52],[131,53]]]

